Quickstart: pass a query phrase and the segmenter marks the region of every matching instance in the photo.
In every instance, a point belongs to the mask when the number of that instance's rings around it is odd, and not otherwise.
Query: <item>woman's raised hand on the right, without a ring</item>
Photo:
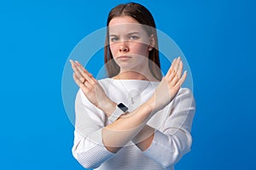
[[[166,76],[162,78],[159,86],[155,89],[154,96],[148,100],[154,111],[163,109],[172,101],[186,77],[187,71],[183,72],[183,62],[180,57],[173,59],[169,71],[166,73]]]

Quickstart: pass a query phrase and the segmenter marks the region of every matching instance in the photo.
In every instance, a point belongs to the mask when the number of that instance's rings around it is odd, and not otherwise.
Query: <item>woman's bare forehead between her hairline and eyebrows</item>
[[[110,20],[108,24],[109,34],[125,34],[131,31],[144,32],[143,25],[130,16],[119,16]]]

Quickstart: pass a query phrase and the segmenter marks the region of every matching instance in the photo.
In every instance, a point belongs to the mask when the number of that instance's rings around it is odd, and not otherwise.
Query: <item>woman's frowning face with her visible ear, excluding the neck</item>
[[[143,69],[153,37],[148,36],[137,20],[130,16],[115,17],[109,22],[109,47],[122,70]]]

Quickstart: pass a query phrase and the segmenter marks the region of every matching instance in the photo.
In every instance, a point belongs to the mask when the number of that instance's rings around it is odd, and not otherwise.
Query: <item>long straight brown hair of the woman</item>
[[[115,63],[113,60],[113,55],[111,54],[109,48],[109,32],[108,32],[108,25],[110,20],[114,17],[118,16],[131,16],[139,24],[145,25],[145,30],[148,33],[148,36],[154,35],[154,48],[149,51],[148,59],[152,60],[153,62],[148,62],[149,69],[152,75],[158,79],[159,81],[162,78],[162,74],[160,71],[160,59],[159,59],[159,51],[158,51],[158,38],[155,30],[155,23],[152,14],[148,11],[147,8],[143,7],[143,5],[138,3],[123,3],[119,4],[118,6],[114,7],[108,14],[108,21],[107,21],[107,35],[104,47],[104,62],[106,65],[106,69],[108,72],[108,77],[114,77],[119,74],[119,65]]]

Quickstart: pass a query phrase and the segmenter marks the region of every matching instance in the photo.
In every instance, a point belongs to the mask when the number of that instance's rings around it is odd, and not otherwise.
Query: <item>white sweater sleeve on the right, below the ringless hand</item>
[[[170,109],[164,126],[155,130],[152,143],[143,151],[145,156],[165,168],[179,161],[192,144],[190,131],[195,116],[195,99],[189,88],[179,90]]]

